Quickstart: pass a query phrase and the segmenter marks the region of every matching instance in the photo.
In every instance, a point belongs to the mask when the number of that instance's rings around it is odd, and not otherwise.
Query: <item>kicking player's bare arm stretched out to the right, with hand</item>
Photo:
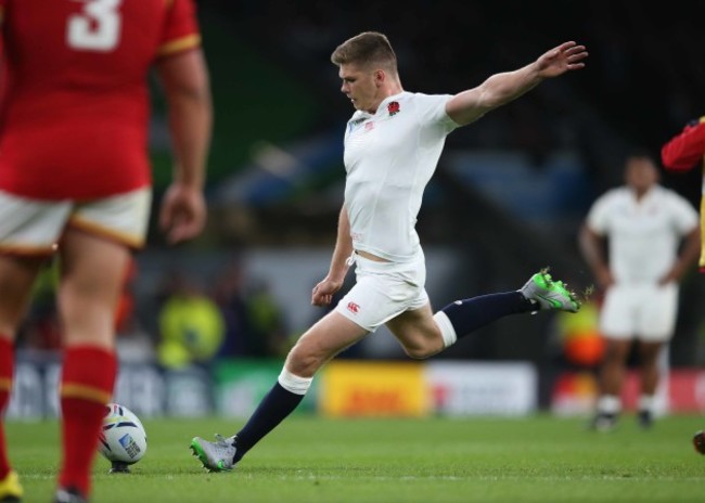
[[[476,88],[456,94],[446,104],[446,112],[457,124],[467,125],[516,100],[547,78],[585,67],[587,56],[585,46],[564,42],[523,68],[495,74]]]

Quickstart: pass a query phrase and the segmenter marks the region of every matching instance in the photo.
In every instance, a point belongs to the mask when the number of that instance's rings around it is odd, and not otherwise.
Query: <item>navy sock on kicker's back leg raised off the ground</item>
[[[521,292],[507,292],[456,300],[441,311],[446,313],[460,338],[509,314],[536,311],[536,306]]]

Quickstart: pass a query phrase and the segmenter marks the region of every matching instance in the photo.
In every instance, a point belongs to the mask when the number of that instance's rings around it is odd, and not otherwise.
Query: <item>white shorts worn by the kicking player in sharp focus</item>
[[[362,328],[374,332],[405,311],[428,302],[423,253],[409,262],[377,262],[355,254],[357,278],[335,310]]]

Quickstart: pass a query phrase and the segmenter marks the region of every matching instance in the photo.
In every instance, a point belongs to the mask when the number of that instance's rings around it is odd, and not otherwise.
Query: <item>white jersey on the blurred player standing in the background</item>
[[[600,196],[587,224],[608,238],[610,267],[620,283],[654,282],[672,267],[681,238],[698,224],[697,211],[676,192],[653,186],[641,202],[620,186]]]

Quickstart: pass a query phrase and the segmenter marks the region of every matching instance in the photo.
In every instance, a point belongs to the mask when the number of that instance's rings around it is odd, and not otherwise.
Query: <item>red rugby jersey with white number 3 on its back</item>
[[[0,0],[0,190],[91,199],[149,185],[149,72],[200,44],[192,0]]]

